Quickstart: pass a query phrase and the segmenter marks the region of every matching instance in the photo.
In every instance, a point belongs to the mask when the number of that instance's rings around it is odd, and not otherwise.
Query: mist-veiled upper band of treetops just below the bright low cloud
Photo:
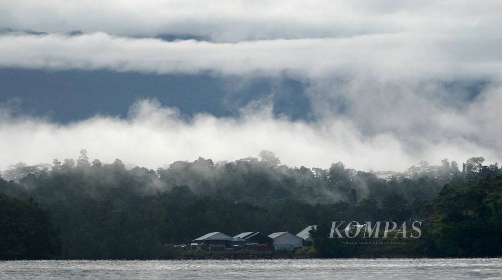
[[[103,164],[98,159],[90,161],[87,151],[81,150],[76,160],[54,159],[52,165],[28,166],[22,162],[11,165],[2,172],[2,177],[23,186],[12,190],[16,195],[35,196],[44,202],[71,199],[66,196],[75,192],[99,199],[113,189],[148,195],[187,185],[197,195],[237,202],[262,203],[291,198],[310,204],[338,200],[356,203],[361,199],[383,201],[390,194],[399,194],[410,201],[430,199],[452,180],[499,173],[496,163],[486,166],[483,162],[482,157],[470,158],[460,170],[458,163],[444,159],[441,165],[420,162],[403,173],[364,172],[347,168],[342,162],[333,163],[329,169],[288,167],[281,165],[274,153],[262,151],[259,157],[232,162],[214,163],[199,157],[194,162],[176,161],[168,168],[128,170],[119,159],[111,164]],[[62,197],[56,198],[55,193]]]

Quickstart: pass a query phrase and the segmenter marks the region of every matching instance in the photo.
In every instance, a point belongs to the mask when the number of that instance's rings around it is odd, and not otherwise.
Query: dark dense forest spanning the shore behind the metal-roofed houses
[[[210,231],[296,233],[337,219],[435,221],[426,234],[428,245],[420,246],[428,251],[421,253],[482,255],[487,246],[489,254],[500,253],[500,245],[481,240],[473,248],[466,241],[471,235],[445,236],[471,222],[491,232],[486,238],[498,240],[500,231],[489,228],[500,226],[501,174],[482,157],[461,167],[447,159],[441,165],[420,162],[398,173],[356,171],[341,162],[329,169],[293,168],[269,151],[233,162],[177,161],[155,171],[127,169],[118,159],[91,162],[82,150],[77,160],[11,166],[2,172],[0,193],[14,208],[26,199],[37,201],[48,217],[40,222],[57,228],[44,240],[61,245],[44,245],[40,253],[65,258],[171,257],[169,244]],[[319,253],[337,256],[325,249],[329,246]],[[22,248],[2,247],[0,253],[25,254]]]

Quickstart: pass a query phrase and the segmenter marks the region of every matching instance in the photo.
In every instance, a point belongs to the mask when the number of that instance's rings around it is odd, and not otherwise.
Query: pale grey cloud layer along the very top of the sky
[[[495,31],[501,10],[497,0],[3,0],[0,27],[117,35],[190,33],[236,42],[390,32],[463,33],[480,27]]]

